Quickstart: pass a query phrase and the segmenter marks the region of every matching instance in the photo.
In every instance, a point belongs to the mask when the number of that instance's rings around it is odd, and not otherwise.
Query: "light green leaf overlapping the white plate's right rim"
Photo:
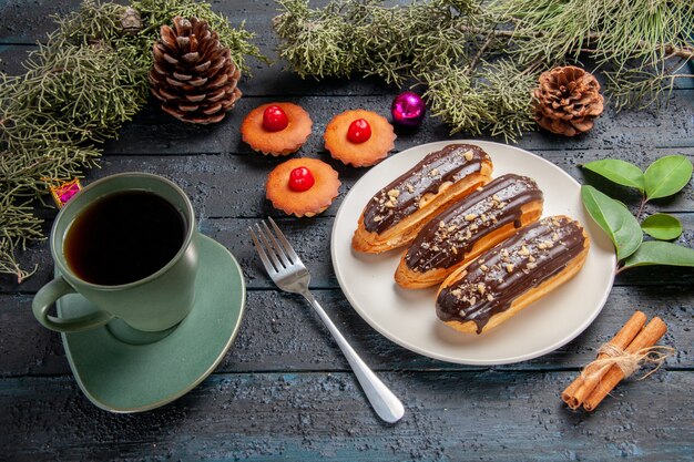
[[[643,233],[626,207],[588,185],[581,187],[581,198],[590,216],[612,239],[618,260],[636,251],[643,240]]]

